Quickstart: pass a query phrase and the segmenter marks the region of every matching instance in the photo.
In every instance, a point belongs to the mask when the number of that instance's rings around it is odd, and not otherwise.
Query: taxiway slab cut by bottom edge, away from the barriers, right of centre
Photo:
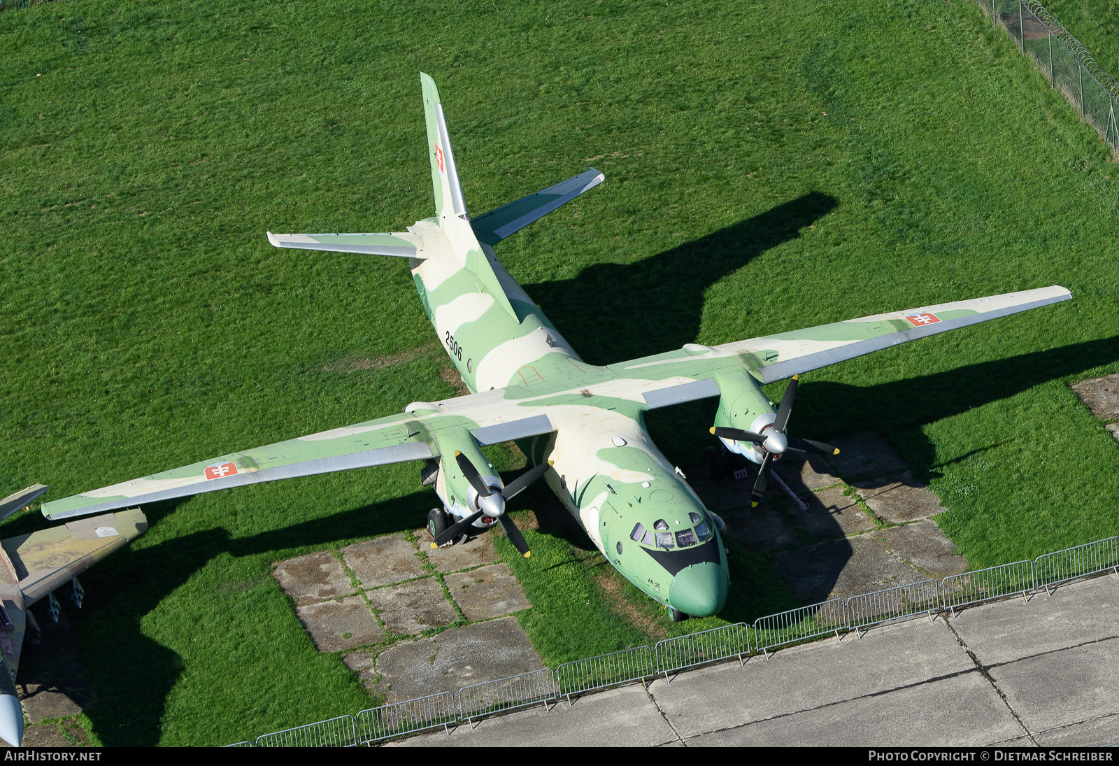
[[[1022,734],[990,683],[971,672],[693,737],[687,746],[977,747]]]

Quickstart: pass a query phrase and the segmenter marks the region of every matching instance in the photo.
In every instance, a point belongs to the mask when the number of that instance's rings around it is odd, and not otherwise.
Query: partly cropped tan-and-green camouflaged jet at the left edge
[[[36,484],[0,499],[0,520],[26,507],[50,487]],[[66,587],[69,599],[82,606],[85,591],[77,576],[148,529],[139,508],[72,521],[0,540],[0,738],[19,747],[23,738],[23,710],[16,692],[16,671],[23,638],[39,643],[39,626],[30,606],[47,599],[47,614],[58,622],[54,591]]]

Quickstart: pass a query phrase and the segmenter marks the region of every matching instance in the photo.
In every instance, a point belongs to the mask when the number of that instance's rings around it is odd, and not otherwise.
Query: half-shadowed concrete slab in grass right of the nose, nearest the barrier
[[[868,534],[773,553],[770,561],[803,604],[848,598],[927,579]]]

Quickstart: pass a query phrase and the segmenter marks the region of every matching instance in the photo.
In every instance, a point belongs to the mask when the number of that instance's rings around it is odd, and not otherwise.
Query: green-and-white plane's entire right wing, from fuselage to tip
[[[718,381],[743,368],[761,383],[772,383],[882,348],[1071,298],[1069,290],[1054,284],[876,314],[720,346],[688,344],[680,351],[610,365],[610,370],[631,380],[633,391],[640,392],[649,409],[655,409],[717,396]]]

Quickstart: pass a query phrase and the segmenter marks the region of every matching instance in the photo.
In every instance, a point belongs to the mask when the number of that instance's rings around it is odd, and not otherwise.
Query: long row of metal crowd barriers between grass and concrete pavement
[[[544,667],[498,681],[466,686],[415,700],[363,710],[356,717],[340,716],[256,738],[257,747],[339,747],[402,737],[450,726],[472,723],[482,716],[543,704],[596,689],[653,679],[687,667],[737,657],[739,664],[755,654],[769,657],[778,646],[811,641],[825,635],[877,625],[893,619],[938,613],[956,614],[966,606],[993,599],[1028,596],[1062,582],[1103,572],[1119,574],[1119,538],[1108,538],[1075,548],[988,567],[942,580],[923,580],[834,598],[820,604],[759,617],[753,625],[736,623],[637,646],[596,657],[566,662],[554,671]],[[245,746],[250,742],[237,742]]]

